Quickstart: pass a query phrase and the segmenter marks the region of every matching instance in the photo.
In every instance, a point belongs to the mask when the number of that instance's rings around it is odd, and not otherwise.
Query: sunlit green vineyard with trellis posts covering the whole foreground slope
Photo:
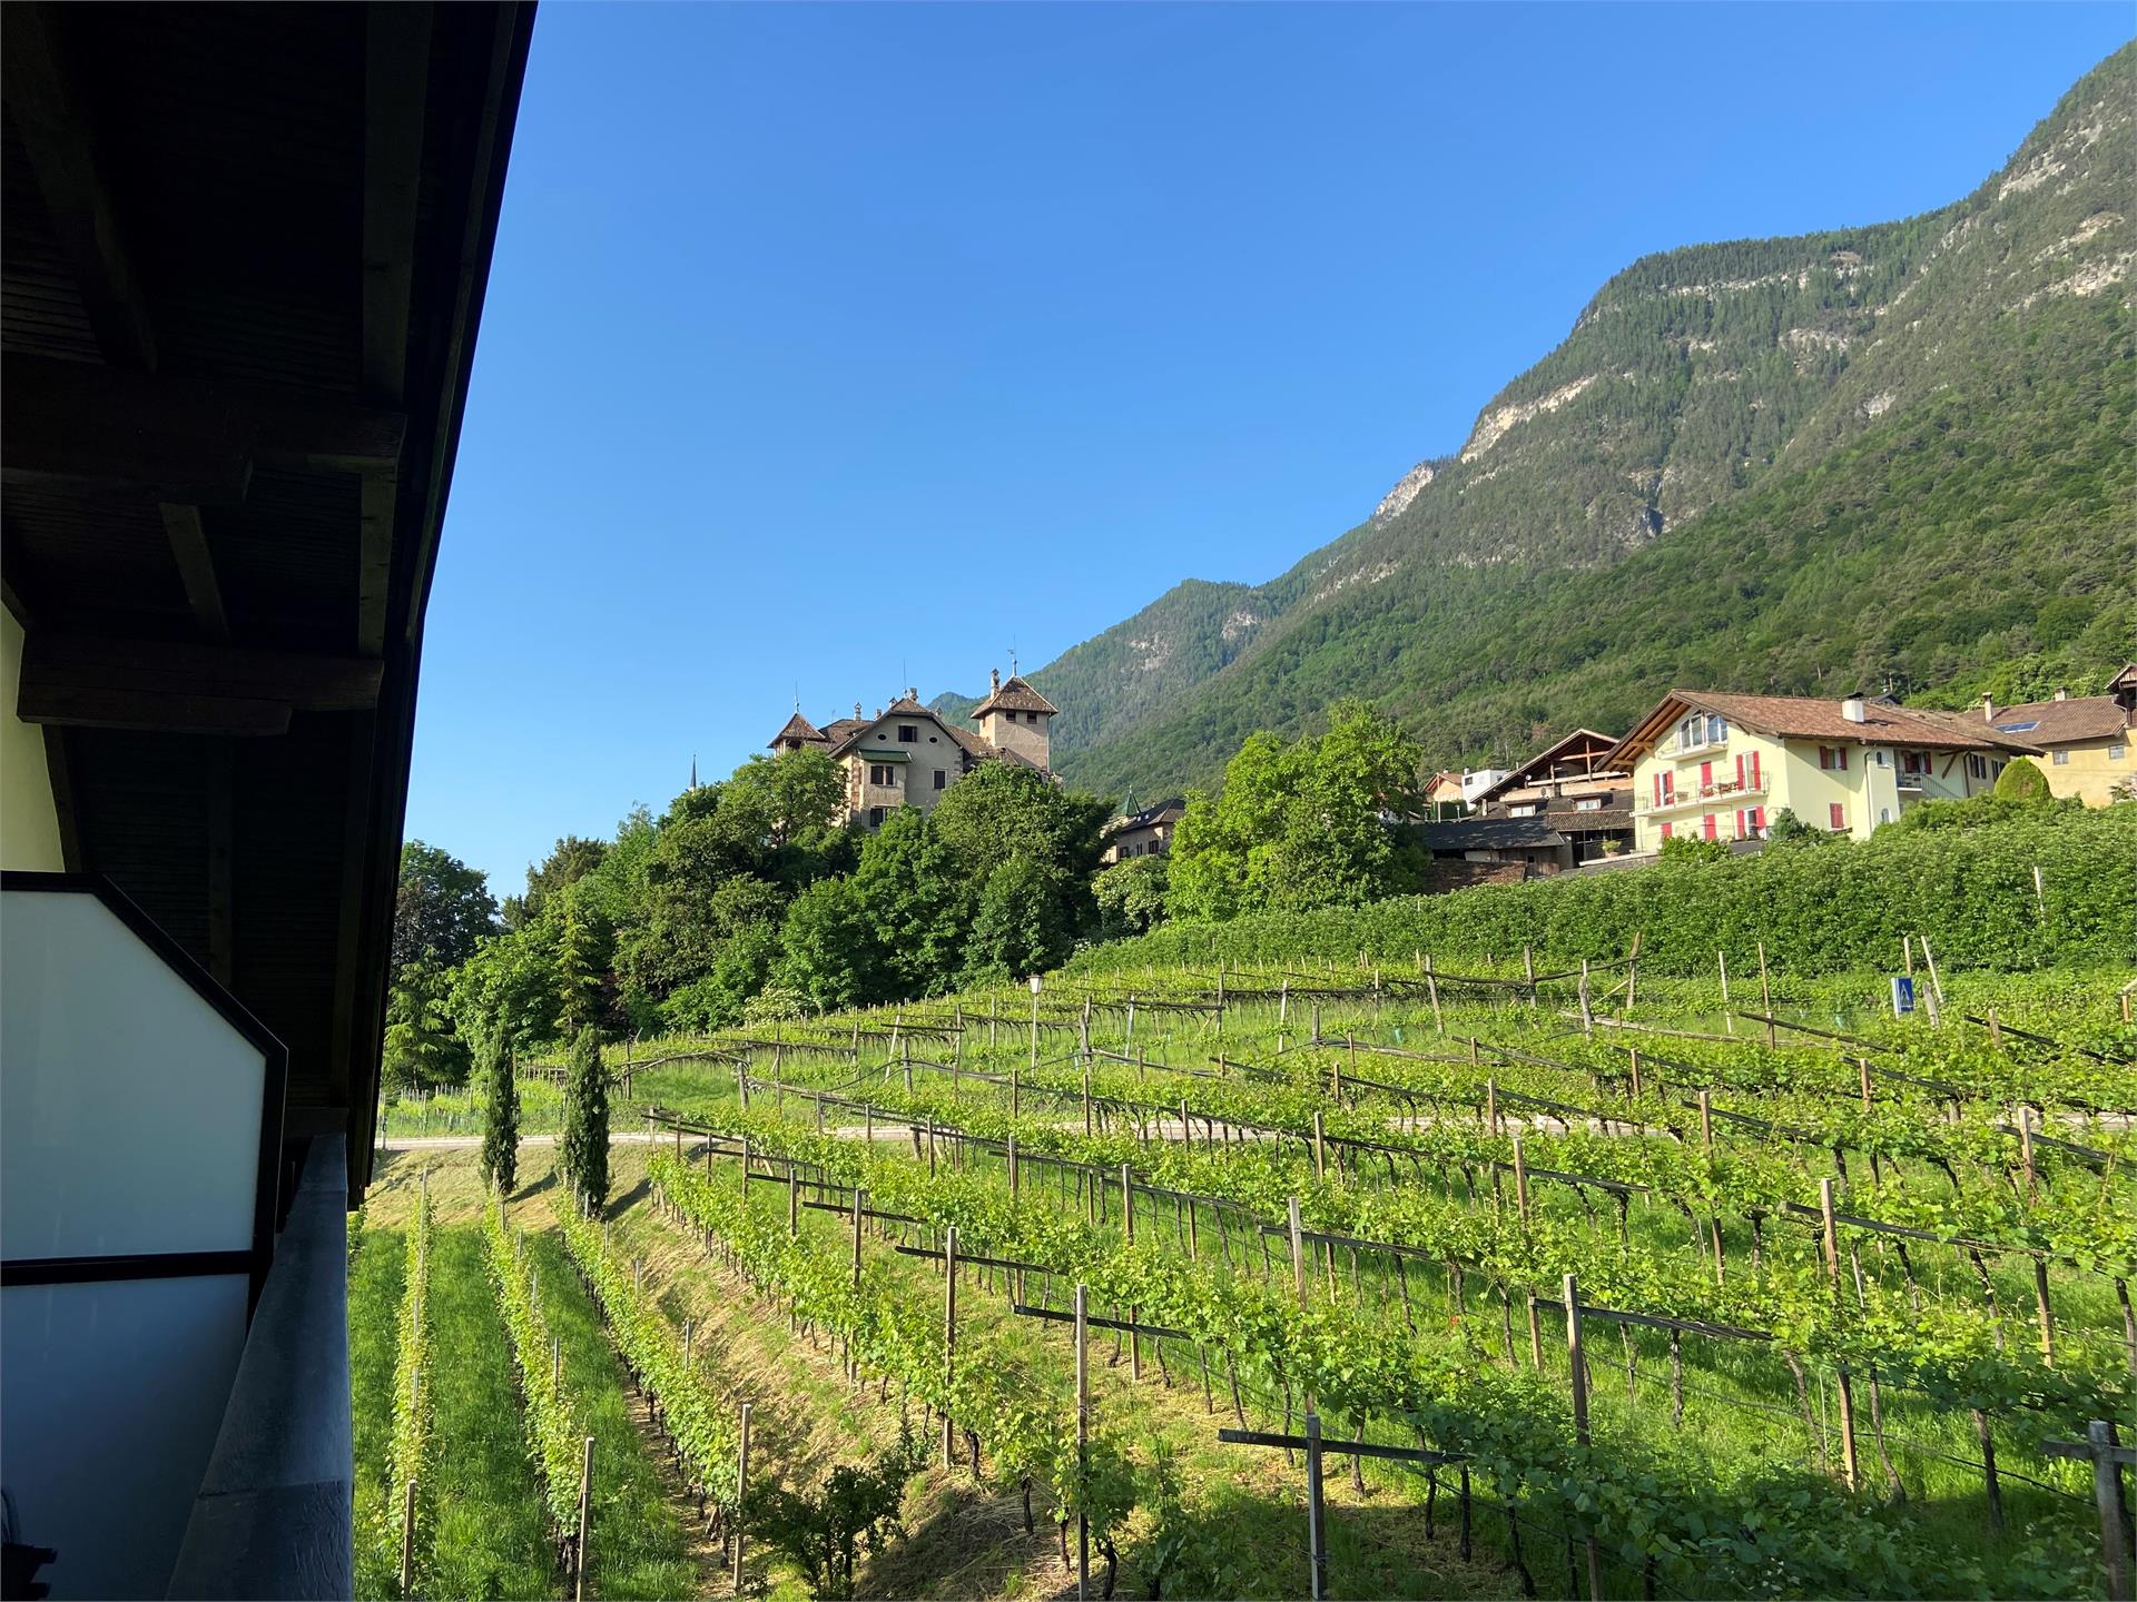
[[[1938,959],[1908,1017],[1635,942],[613,1047],[607,1207],[385,1160],[363,1593],[2126,1593],[2128,976]]]

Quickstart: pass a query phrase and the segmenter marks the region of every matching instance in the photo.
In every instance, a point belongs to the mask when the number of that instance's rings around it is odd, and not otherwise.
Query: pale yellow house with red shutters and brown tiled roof
[[[1782,810],[1868,839],[1906,807],[1981,795],[2011,756],[2039,754],[1975,713],[1671,690],[1607,765],[1631,769],[1635,848],[1652,852],[1673,835],[1763,839]]]

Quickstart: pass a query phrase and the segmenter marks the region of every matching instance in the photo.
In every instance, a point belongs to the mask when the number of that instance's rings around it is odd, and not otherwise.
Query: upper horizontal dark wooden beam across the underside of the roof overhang
[[[9,357],[0,476],[143,493],[182,506],[246,498],[252,464],[391,472],[408,421],[355,402]]]

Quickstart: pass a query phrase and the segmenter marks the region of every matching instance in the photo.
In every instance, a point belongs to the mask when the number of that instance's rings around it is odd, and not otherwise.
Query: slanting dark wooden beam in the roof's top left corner
[[[126,254],[126,235],[98,167],[68,62],[56,38],[58,6],[11,4],[0,70],[6,109],[21,135],[51,226],[75,267],[81,303],[105,361],[156,365],[147,301]],[[13,408],[11,408],[13,410]]]

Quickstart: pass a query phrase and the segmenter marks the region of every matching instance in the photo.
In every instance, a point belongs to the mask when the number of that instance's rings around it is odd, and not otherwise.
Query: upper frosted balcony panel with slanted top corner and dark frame
[[[4,895],[0,1064],[0,1256],[252,1243],[265,1057],[94,895]]]

